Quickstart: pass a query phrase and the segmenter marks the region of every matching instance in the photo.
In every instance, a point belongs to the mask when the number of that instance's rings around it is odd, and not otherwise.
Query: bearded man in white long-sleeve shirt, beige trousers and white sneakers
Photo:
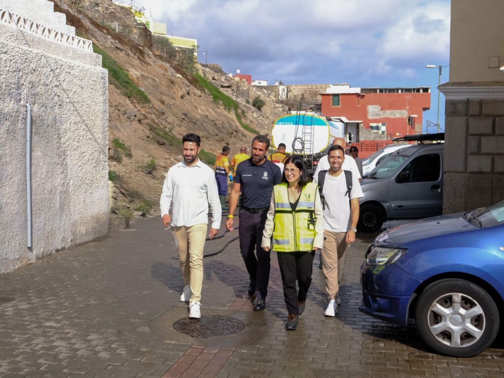
[[[189,301],[189,317],[195,319],[201,317],[208,205],[212,210],[210,239],[219,232],[222,215],[214,171],[198,158],[200,143],[201,138],[196,134],[183,136],[183,160],[168,170],[159,201],[163,225],[171,227],[178,249],[184,279],[180,301]]]

